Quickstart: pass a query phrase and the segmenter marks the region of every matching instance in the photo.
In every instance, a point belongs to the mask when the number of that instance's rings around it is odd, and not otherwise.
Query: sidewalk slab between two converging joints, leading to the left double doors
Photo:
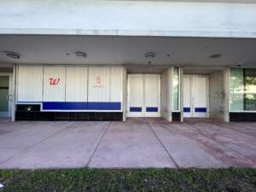
[[[141,119],[113,122],[90,167],[175,167],[154,133]]]

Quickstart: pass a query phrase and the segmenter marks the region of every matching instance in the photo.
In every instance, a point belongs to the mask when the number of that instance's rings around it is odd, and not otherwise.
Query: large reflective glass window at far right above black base
[[[256,111],[256,69],[230,69],[230,111]]]

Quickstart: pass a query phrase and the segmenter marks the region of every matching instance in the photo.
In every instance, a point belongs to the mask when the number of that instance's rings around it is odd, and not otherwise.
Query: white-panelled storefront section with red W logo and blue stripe
[[[123,120],[123,67],[16,69],[16,120]]]

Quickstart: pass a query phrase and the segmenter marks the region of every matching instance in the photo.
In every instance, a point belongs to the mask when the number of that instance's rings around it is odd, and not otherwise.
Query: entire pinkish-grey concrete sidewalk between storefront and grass
[[[0,120],[0,168],[254,167],[256,123]]]

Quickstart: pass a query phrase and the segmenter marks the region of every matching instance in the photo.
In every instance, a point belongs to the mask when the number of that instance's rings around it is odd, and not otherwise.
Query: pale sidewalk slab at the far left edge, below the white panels
[[[41,143],[67,125],[67,122],[1,122],[0,163]]]

